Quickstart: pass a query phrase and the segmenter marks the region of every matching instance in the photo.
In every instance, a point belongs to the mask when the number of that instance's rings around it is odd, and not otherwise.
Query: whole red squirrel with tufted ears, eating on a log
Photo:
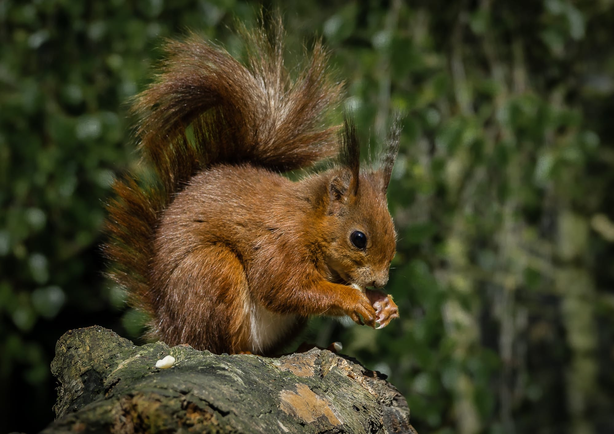
[[[291,79],[279,19],[240,33],[246,65],[194,35],[168,42],[134,99],[151,174],[115,182],[109,276],[149,314],[151,338],[216,354],[276,354],[314,315],[384,327],[397,306],[366,287],[386,285],[395,254],[398,117],[361,168],[351,117],[324,122],[343,83],[321,43]],[[335,155],[301,180],[281,174]]]

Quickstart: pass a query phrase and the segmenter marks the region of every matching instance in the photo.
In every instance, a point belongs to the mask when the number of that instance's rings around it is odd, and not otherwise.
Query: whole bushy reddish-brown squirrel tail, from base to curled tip
[[[104,246],[109,276],[129,303],[150,314],[149,266],[160,213],[199,170],[249,161],[275,171],[313,165],[334,155],[338,128],[323,115],[340,100],[319,42],[298,77],[283,61],[281,18],[267,28],[241,29],[246,65],[192,35],[166,44],[156,80],[134,99],[137,134],[153,182],[115,182]]]

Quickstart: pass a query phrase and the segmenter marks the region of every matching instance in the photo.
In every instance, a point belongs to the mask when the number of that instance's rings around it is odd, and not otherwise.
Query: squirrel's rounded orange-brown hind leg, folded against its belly
[[[166,279],[165,279],[166,280]],[[252,351],[243,263],[227,246],[190,251],[168,274],[160,338],[216,354]]]

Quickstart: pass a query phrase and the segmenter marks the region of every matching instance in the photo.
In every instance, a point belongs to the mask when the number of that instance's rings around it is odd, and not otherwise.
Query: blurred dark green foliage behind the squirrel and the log
[[[389,190],[402,318],[317,319],[308,338],[389,374],[422,433],[614,432],[614,2],[281,7],[289,62],[324,37],[365,143],[406,112]],[[138,164],[124,103],[164,37],[241,52],[227,26],[256,10],[0,0],[0,432],[52,419],[64,331],[138,339],[98,247],[112,179]]]

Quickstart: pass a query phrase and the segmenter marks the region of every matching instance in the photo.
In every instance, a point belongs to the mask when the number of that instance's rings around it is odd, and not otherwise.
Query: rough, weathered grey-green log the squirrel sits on
[[[172,368],[157,360],[173,355]],[[56,420],[44,433],[415,433],[381,374],[330,351],[280,358],[141,347],[102,327],[56,344]]]

